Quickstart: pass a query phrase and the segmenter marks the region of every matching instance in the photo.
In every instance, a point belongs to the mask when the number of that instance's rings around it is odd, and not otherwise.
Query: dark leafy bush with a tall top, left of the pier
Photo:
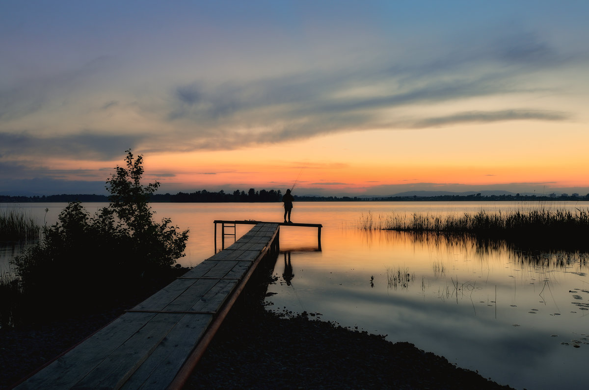
[[[143,156],[127,150],[126,166],[107,183],[110,204],[90,216],[79,201],[68,203],[58,222],[43,227],[42,240],[15,257],[15,273],[27,295],[96,302],[133,288],[184,256],[188,230],[170,219],[153,221],[148,204],[160,186],[141,185]]]

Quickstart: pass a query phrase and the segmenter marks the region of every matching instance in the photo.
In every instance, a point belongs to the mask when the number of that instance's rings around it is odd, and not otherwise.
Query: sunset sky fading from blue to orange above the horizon
[[[589,193],[589,1],[0,3],[0,194]]]

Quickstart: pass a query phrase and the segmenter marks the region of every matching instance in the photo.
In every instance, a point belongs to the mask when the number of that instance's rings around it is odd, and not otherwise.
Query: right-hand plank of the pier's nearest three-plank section
[[[213,315],[185,315],[122,389],[165,389],[186,361]]]

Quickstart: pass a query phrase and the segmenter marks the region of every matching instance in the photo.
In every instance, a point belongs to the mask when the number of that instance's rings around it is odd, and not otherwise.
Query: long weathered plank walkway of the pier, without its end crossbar
[[[239,240],[59,356],[16,389],[178,389],[263,257],[279,223]]]

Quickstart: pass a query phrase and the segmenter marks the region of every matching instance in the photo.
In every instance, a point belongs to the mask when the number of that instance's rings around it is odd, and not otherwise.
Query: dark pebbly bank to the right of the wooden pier
[[[391,343],[315,314],[268,312],[267,284],[267,277],[250,281],[186,388],[509,388],[411,343]]]

